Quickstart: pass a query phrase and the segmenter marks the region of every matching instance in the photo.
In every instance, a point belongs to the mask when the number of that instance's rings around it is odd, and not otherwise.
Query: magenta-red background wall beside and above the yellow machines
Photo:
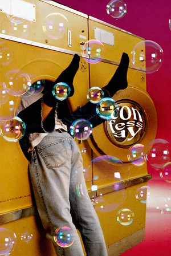
[[[127,13],[117,20],[107,14],[108,2],[108,0],[58,1],[58,3],[132,32],[146,40],[152,40],[161,46],[164,51],[164,63],[157,72],[146,75],[146,87],[157,111],[156,139],[165,139],[171,143],[171,31],[169,28],[171,1],[125,0]],[[124,256],[171,255],[171,212],[161,214],[160,210],[156,210],[156,206],[162,207],[164,198],[170,197],[171,199],[171,183],[161,180],[159,173],[150,166],[148,166],[148,173],[152,173],[153,179],[148,182],[150,197],[146,205],[145,241],[122,254]],[[171,202],[168,207],[171,209]]]

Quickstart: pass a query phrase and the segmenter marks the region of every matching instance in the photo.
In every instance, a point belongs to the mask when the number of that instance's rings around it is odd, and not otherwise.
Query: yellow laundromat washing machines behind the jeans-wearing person
[[[75,111],[88,102],[89,88],[107,85],[122,52],[131,59],[133,47],[144,40],[53,1],[0,1],[0,5],[2,96],[4,84],[13,81],[16,74],[29,76],[31,83],[54,81],[77,53],[81,60],[74,79],[75,94],[68,101],[71,111]],[[54,27],[48,24],[50,21],[56,21]],[[103,59],[96,64],[87,63],[81,54],[84,43],[91,39],[100,40],[105,47]],[[113,96],[117,115],[93,128],[87,140],[77,141],[108,255],[120,255],[143,241],[147,181],[152,178],[145,161],[134,164],[128,158],[134,145],[140,144],[145,152],[157,129],[156,110],[146,92],[145,75],[129,64],[128,88]],[[19,91],[19,84],[15,86]],[[1,101],[1,121],[3,115],[17,114],[21,100],[20,96],[8,96],[5,104],[13,102],[13,107],[6,107]],[[19,142],[6,141],[2,136],[0,140],[0,231],[11,241],[5,248],[0,244],[0,253],[4,255],[6,250],[12,256],[54,256],[36,210],[28,161]],[[121,214],[125,221],[120,219]]]

